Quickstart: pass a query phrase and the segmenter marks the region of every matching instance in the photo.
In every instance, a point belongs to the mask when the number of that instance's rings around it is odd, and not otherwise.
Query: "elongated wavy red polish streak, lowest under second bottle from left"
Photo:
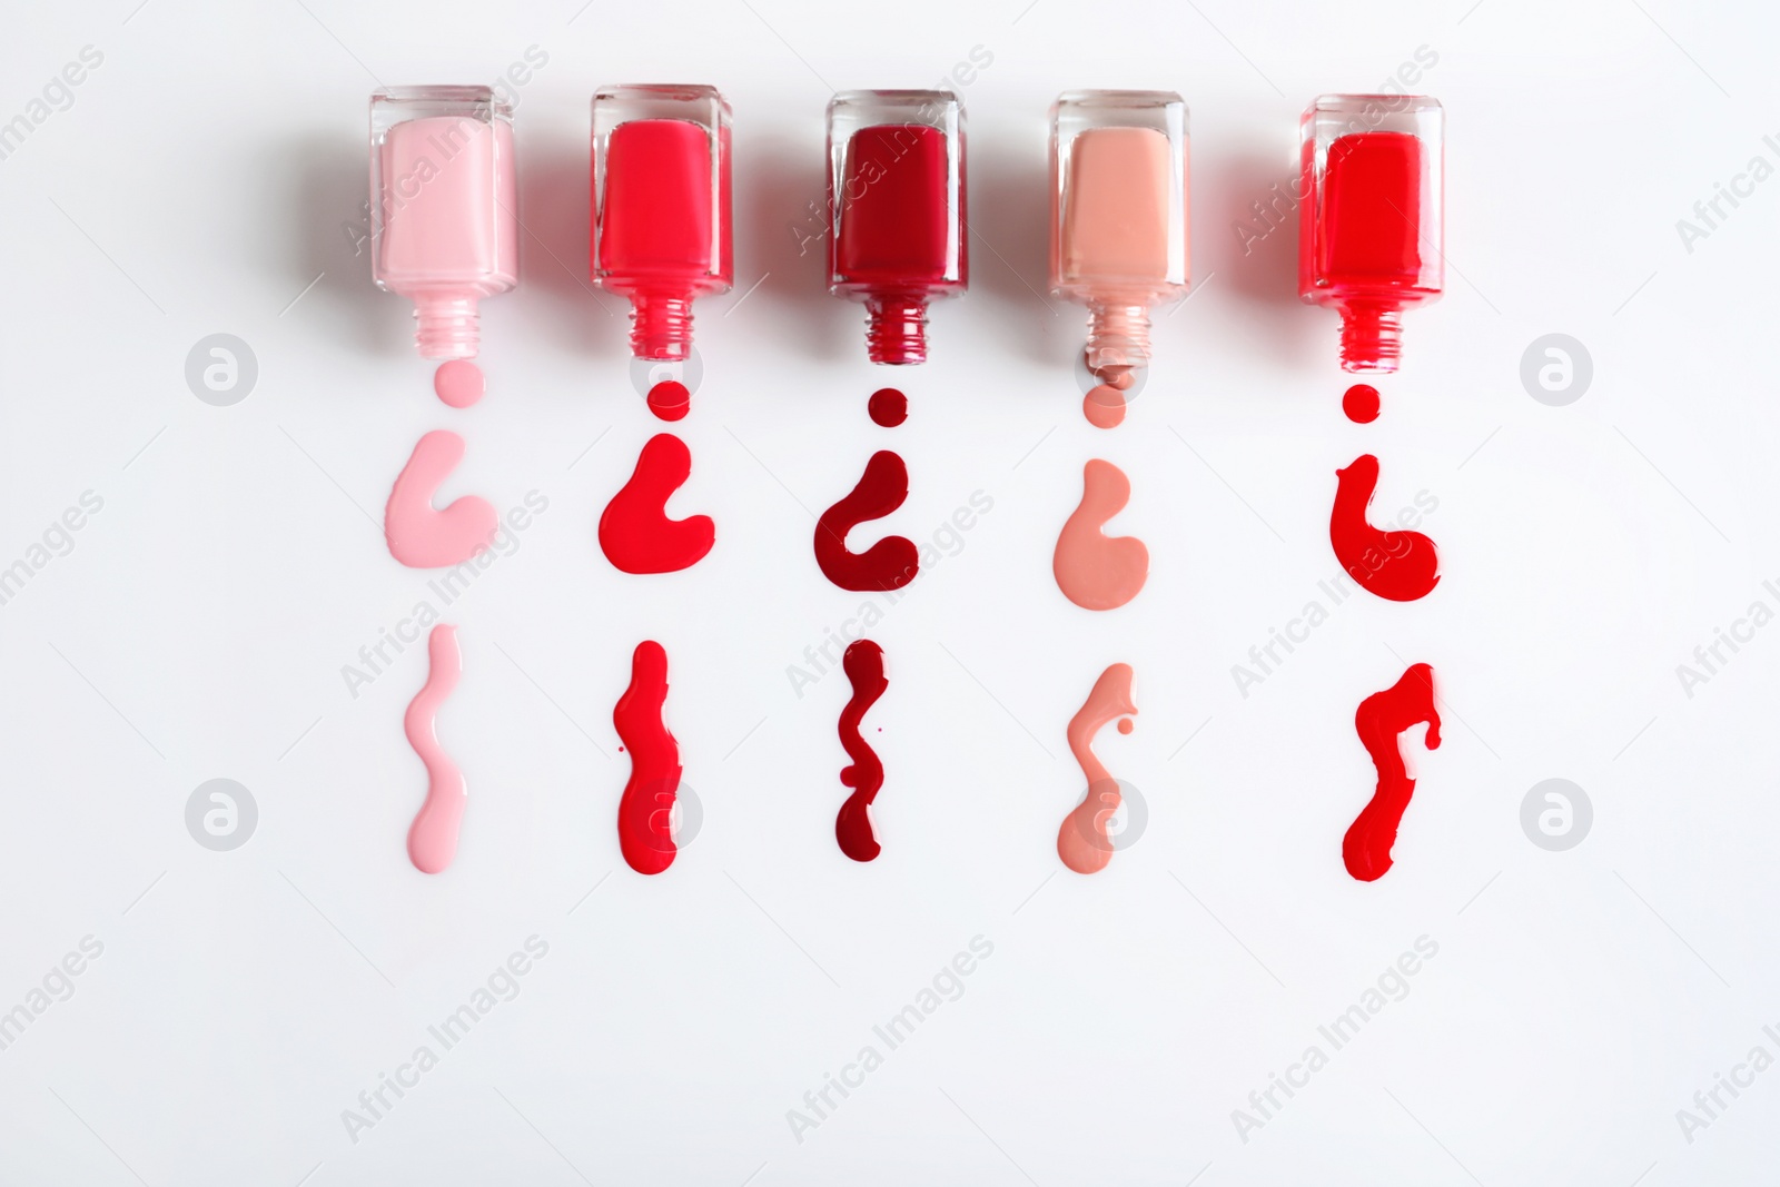
[[[612,726],[630,753],[630,781],[618,801],[618,847],[637,874],[673,865],[673,804],[680,790],[680,744],[662,723],[668,651],[653,639],[630,658],[630,687],[612,708]]]

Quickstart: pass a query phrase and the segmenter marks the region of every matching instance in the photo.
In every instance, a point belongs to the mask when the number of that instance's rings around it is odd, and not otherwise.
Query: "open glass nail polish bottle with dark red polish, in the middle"
[[[927,303],[970,283],[965,109],[949,91],[828,103],[828,290],[865,303],[874,363],[927,359]]]

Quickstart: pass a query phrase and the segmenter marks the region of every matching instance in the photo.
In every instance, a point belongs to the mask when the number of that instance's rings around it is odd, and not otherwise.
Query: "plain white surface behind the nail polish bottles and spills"
[[[0,39],[0,121],[82,46],[105,55],[0,160],[0,566],[82,491],[105,500],[0,607],[0,1009],[103,943],[0,1052],[0,1180],[1771,1180],[1780,1071],[1693,1143],[1675,1116],[1757,1043],[1780,1054],[1780,628],[1693,698],[1675,674],[1752,600],[1780,605],[1760,589],[1780,575],[1780,182],[1693,253],[1675,230],[1753,155],[1780,164],[1771,12],[135,4],[12,4]],[[493,82],[534,44],[522,283],[484,306],[488,397],[452,411],[352,247],[365,103],[379,82]],[[886,432],[863,313],[792,226],[822,194],[833,87],[933,85],[974,46],[993,62],[963,89],[972,290],[934,310],[933,361],[894,375],[913,411]],[[1419,46],[1447,107],[1449,288],[1408,315],[1362,427],[1335,315],[1294,297],[1296,228],[1244,256],[1232,224],[1290,174],[1312,96],[1371,91]],[[596,85],[653,80],[735,109],[737,288],[698,306],[705,381],[675,429],[694,475],[673,509],[712,513],[716,550],[637,578],[595,525],[660,425],[621,304],[582,283],[586,139]],[[1194,132],[1203,288],[1159,320],[1112,432],[1079,413],[1080,311],[1041,295],[1045,112],[1089,85],[1178,89]],[[233,408],[183,379],[219,331],[260,365]],[[1554,331],[1595,363],[1568,408],[1518,377]],[[356,699],[340,669],[425,596],[379,525],[436,427],[468,440],[445,495],[550,509],[449,612],[465,674],[440,735],[472,799],[427,877],[402,849],[424,648]],[[931,539],[979,489],[993,511],[874,632],[885,852],[862,867],[833,842],[846,678],[799,698],[787,667],[863,602],[817,571],[810,513],[886,447],[911,472],[888,529]],[[1440,587],[1349,600],[1242,698],[1232,664],[1337,571],[1333,472],[1360,452],[1385,514],[1438,498]],[[1116,527],[1152,553],[1111,614],[1050,578],[1095,456],[1130,475]],[[653,879],[612,828],[611,710],[644,637],[671,657],[705,810]],[[1054,849],[1082,794],[1063,728],[1114,660],[1141,715],[1098,749],[1148,826],[1079,877]],[[1397,867],[1360,884],[1340,865],[1372,787],[1353,710],[1413,660],[1447,737],[1410,747]],[[1568,852],[1520,828],[1554,776],[1595,806]],[[258,803],[233,852],[183,824],[210,778]],[[532,934],[548,956],[522,993],[352,1143],[342,1110]],[[993,956],[963,997],[796,1141],[787,1110],[979,934]],[[1328,1050],[1317,1027],[1424,934],[1438,956],[1408,997],[1244,1143],[1232,1110]]]

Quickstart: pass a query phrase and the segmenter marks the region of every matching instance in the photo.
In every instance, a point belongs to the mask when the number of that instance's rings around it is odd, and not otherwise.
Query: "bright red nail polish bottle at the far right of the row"
[[[1442,125],[1420,94],[1324,94],[1299,123],[1298,295],[1340,313],[1342,370],[1397,370],[1403,310],[1445,287]]]

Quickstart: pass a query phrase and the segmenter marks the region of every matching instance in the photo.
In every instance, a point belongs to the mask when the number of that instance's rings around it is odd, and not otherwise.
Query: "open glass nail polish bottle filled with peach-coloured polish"
[[[1150,306],[1187,295],[1187,105],[1066,91],[1050,109],[1050,290],[1088,306],[1088,370],[1150,361]]]

